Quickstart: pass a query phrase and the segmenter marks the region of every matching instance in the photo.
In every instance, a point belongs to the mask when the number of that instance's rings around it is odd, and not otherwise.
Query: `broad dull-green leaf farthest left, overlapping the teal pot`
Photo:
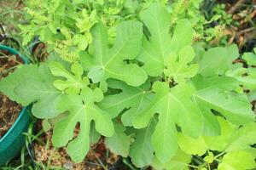
[[[24,65],[0,82],[0,90],[21,105],[33,102],[32,114],[52,118],[59,114],[57,105],[63,94],[53,86],[55,77],[47,64]]]

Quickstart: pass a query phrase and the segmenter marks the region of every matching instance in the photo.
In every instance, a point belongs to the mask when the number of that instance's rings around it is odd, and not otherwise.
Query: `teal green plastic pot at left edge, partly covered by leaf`
[[[10,54],[20,55],[25,65],[27,65],[28,61],[26,57],[15,49],[0,45],[0,50],[6,50],[9,51]],[[0,139],[0,167],[15,156],[18,156],[24,146],[25,135],[23,133],[27,131],[28,125],[32,121],[29,112],[30,107],[24,107],[13,126],[4,134],[3,138]]]

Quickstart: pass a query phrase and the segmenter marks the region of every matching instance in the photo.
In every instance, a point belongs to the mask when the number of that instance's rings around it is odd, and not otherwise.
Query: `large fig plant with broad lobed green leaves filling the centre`
[[[194,47],[191,21],[173,23],[165,5],[151,3],[139,15],[120,21],[113,41],[104,20],[97,20],[76,62],[51,53],[46,62],[4,78],[0,91],[22,105],[33,103],[36,117],[58,120],[53,144],[67,146],[75,162],[103,135],[109,149],[130,156],[136,167],[256,167],[255,68],[232,64],[240,57],[236,45]],[[254,58],[242,56],[247,65]]]

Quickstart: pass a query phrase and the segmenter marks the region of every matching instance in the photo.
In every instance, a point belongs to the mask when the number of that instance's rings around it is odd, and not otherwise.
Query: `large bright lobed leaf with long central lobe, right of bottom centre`
[[[146,127],[154,114],[159,114],[152,144],[155,155],[162,162],[170,160],[177,152],[176,124],[189,136],[196,138],[201,134],[201,111],[190,98],[194,90],[189,84],[170,89],[166,82],[154,82],[153,102],[133,121],[136,128]]]

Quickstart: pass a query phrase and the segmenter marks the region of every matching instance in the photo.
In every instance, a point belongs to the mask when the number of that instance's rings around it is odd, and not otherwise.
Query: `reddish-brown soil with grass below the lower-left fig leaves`
[[[37,123],[36,128],[42,129],[40,121]],[[37,129],[36,129],[37,131]],[[74,136],[79,133],[77,127],[74,131]],[[35,141],[32,147],[34,152],[33,160],[39,164],[44,164],[50,169],[67,169],[67,170],[130,170],[122,162],[121,157],[113,154],[108,150],[104,144],[102,137],[97,144],[90,146],[88,155],[81,163],[74,163],[67,155],[66,147],[57,149],[51,143],[52,131],[43,133],[40,141]]]

